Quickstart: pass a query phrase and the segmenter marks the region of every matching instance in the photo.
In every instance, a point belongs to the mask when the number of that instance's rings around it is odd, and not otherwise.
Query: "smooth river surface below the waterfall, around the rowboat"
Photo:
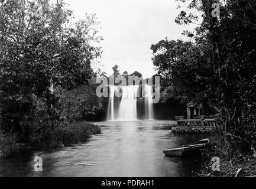
[[[98,122],[102,134],[51,152],[24,152],[0,160],[0,177],[183,177],[202,165],[200,156],[164,157],[163,150],[207,135],[174,135],[172,121]],[[34,158],[43,171],[34,171]]]

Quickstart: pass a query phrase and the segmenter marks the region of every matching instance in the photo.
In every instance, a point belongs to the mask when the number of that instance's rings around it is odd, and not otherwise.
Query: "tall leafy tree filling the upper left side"
[[[51,83],[72,89],[93,76],[90,63],[101,55],[95,15],[74,24],[63,1],[10,0],[0,4],[0,107],[2,125],[21,131],[20,121],[33,119],[34,96],[48,113],[56,97]]]

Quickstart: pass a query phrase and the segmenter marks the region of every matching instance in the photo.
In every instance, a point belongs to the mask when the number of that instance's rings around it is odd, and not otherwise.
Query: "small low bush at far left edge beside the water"
[[[18,151],[17,137],[0,132],[0,158],[8,157]]]

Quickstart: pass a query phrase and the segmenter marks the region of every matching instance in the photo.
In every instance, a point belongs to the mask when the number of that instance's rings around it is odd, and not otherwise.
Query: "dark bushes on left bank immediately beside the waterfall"
[[[99,98],[95,94],[96,86],[79,86],[73,90],[63,90],[60,86],[54,89],[59,97],[61,118],[73,121],[100,121],[106,117],[108,98]]]

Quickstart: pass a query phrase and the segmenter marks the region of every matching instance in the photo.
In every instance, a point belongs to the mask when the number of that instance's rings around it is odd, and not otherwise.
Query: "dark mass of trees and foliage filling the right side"
[[[256,140],[256,2],[179,1],[188,9],[178,24],[196,23],[200,14],[202,22],[184,32],[190,41],[165,39],[151,47],[166,97],[208,103],[219,112],[232,149],[249,151]],[[219,17],[212,14],[215,2]]]

